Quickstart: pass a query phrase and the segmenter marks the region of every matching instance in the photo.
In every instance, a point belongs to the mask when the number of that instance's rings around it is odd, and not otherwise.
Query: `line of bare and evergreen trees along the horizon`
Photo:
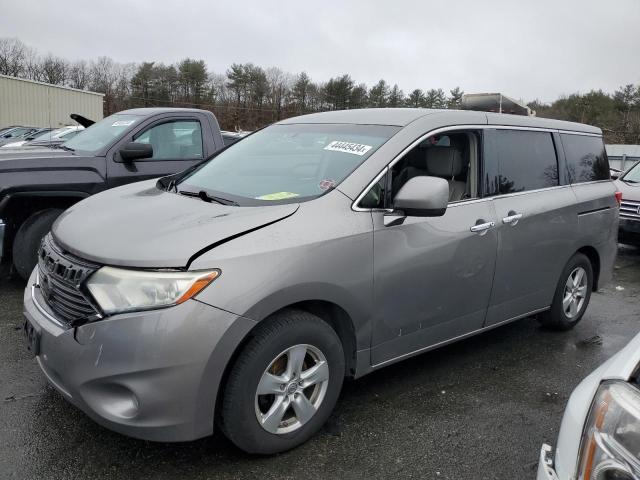
[[[458,108],[464,92],[455,87],[405,93],[384,79],[357,83],[349,74],[313,81],[305,72],[234,63],[211,72],[204,60],[175,64],[118,63],[108,57],[69,61],[41,55],[16,38],[0,38],[0,74],[100,92],[104,114],[135,107],[175,106],[211,110],[222,128],[253,130],[283,118],[326,110],[365,107]],[[640,143],[640,85],[608,94],[594,90],[551,103],[533,101],[537,115],[597,125],[608,143]]]

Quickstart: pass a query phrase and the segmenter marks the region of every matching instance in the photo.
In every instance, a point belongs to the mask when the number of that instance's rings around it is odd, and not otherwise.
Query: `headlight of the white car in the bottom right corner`
[[[625,382],[600,386],[585,425],[578,478],[640,478],[640,390]]]

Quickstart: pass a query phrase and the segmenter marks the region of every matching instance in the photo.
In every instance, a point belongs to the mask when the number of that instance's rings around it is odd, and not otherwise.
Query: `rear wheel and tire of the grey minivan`
[[[577,275],[582,275],[578,285],[576,285]],[[570,281],[571,290],[569,290]],[[551,308],[538,317],[540,323],[553,330],[571,330],[582,320],[589,306],[592,287],[591,261],[586,255],[576,253],[562,270]],[[569,296],[573,298],[567,301]]]

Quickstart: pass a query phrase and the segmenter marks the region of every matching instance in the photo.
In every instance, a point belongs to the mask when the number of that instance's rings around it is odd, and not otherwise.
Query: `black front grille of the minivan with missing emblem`
[[[99,316],[81,290],[98,268],[100,265],[64,252],[51,234],[44,238],[38,252],[38,285],[44,301],[61,320],[78,325]]]

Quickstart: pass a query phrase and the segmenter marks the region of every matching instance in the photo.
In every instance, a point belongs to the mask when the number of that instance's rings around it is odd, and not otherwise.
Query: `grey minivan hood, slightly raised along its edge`
[[[68,252],[105,265],[188,268],[205,251],[282,220],[297,204],[234,207],[156,188],[155,180],[108,190],[75,204],[54,223]]]

